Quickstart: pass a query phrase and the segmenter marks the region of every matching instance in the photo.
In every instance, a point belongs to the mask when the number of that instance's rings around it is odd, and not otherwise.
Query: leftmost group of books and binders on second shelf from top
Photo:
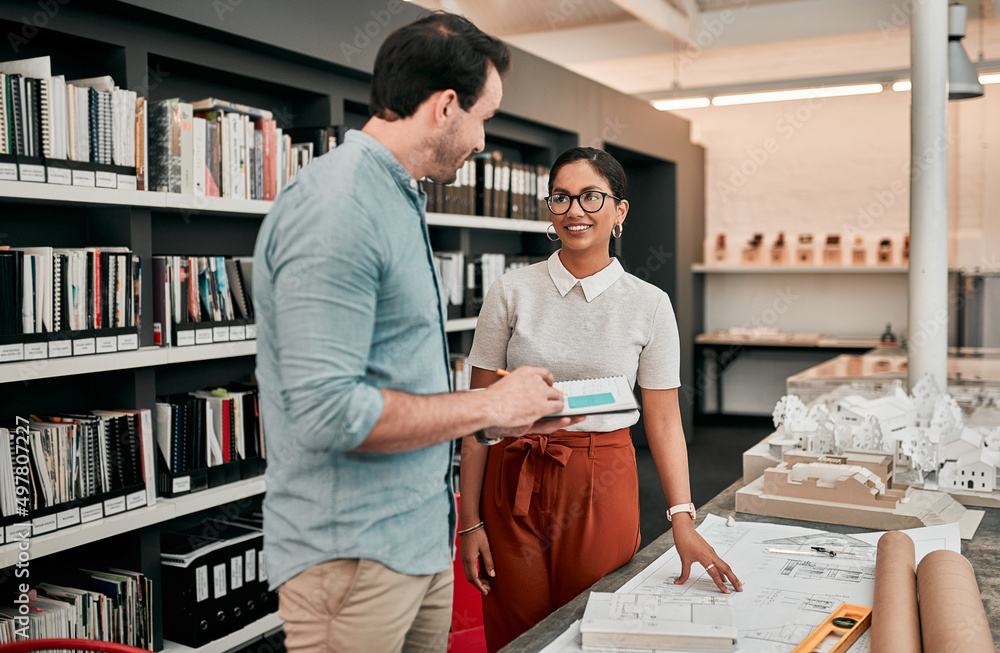
[[[0,361],[138,348],[141,277],[125,247],[0,250]]]

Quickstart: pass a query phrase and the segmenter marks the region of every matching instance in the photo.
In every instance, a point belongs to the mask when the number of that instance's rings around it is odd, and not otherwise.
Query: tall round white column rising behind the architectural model
[[[948,0],[913,3],[910,27],[909,381],[947,387]]]

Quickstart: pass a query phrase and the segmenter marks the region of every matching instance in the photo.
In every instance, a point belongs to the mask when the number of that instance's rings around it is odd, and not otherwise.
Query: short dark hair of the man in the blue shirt
[[[448,89],[468,111],[486,83],[487,63],[505,74],[510,50],[462,16],[437,12],[404,25],[375,57],[371,115],[409,118],[432,93]]]

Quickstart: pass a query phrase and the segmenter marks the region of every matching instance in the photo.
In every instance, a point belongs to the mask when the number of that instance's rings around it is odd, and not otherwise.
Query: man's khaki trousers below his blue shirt
[[[374,560],[331,560],[278,588],[289,653],[444,653],[452,567],[407,576]]]

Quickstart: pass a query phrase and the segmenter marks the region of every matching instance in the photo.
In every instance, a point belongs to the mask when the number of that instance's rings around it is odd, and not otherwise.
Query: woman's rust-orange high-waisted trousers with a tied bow
[[[496,567],[483,597],[492,653],[639,550],[629,429],[556,431],[494,445],[479,510]]]

